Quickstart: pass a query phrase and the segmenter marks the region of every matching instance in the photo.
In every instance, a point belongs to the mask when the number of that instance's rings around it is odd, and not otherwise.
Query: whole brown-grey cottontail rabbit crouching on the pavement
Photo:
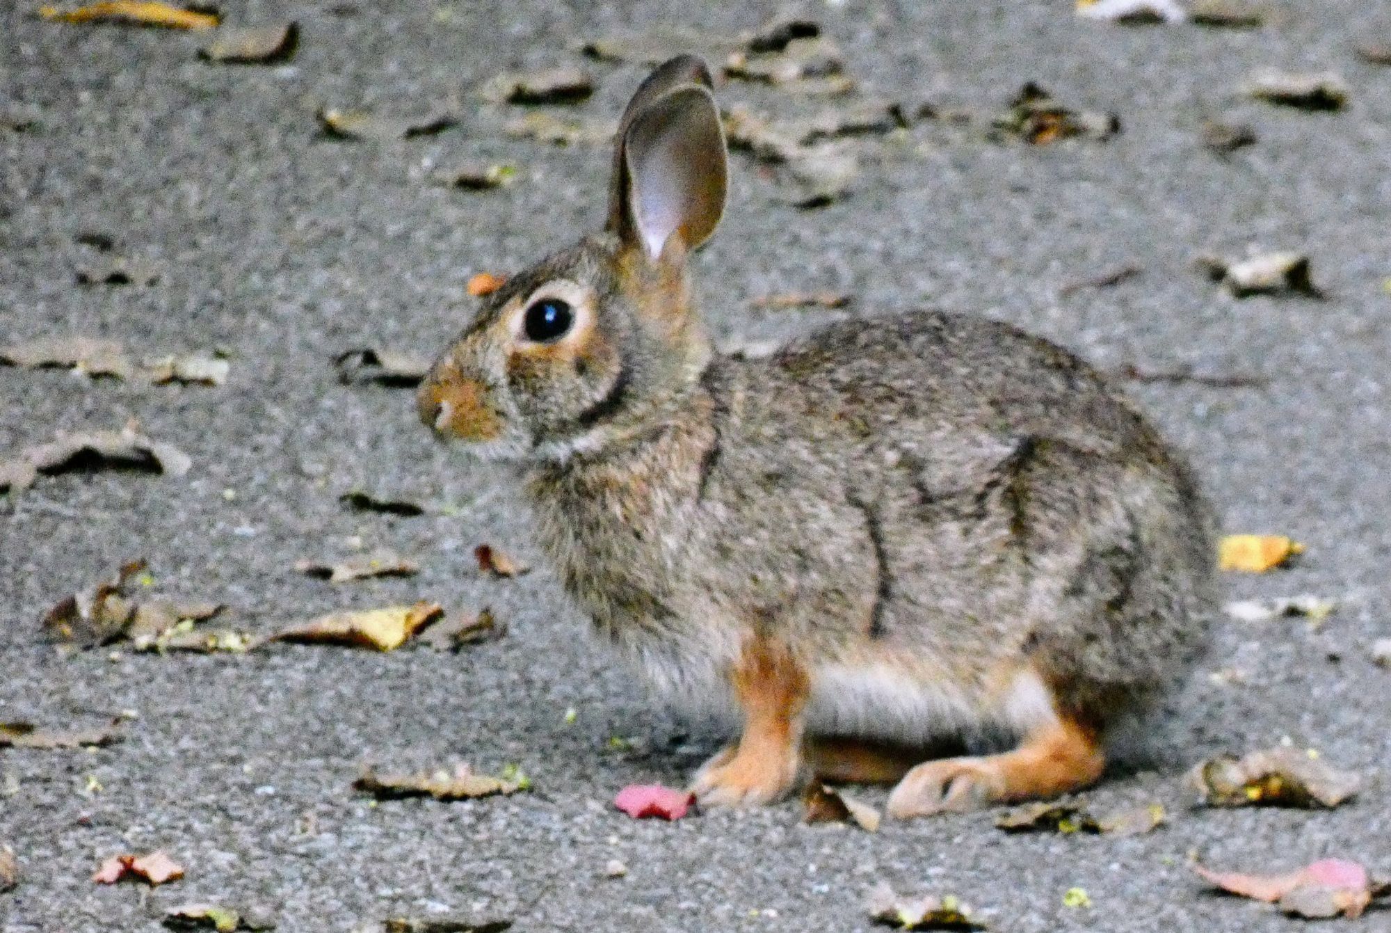
[[[619,124],[604,230],[484,299],[421,421],[512,466],[602,639],[741,717],[702,805],[808,770],[897,781],[897,817],[1095,783],[1107,727],[1206,642],[1193,472],[1095,369],[1003,323],[922,311],[716,352],[690,259],[726,188],[709,72],[672,58]],[[946,735],[996,748],[928,759]]]

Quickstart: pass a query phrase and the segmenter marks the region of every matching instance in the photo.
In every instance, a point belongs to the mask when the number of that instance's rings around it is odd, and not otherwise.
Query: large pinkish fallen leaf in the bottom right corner
[[[1280,875],[1244,875],[1241,872],[1213,872],[1193,863],[1193,870],[1209,884],[1230,894],[1255,901],[1278,904],[1292,916],[1327,919],[1333,916],[1360,916],[1380,894],[1358,862],[1340,858],[1319,859],[1295,872]]]

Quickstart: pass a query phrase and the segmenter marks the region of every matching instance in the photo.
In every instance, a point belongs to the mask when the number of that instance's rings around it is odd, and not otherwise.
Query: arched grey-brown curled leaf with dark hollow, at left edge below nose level
[[[39,473],[71,469],[143,469],[182,476],[192,466],[188,454],[172,444],[153,440],[134,426],[121,430],[92,430],[35,444],[13,460],[0,461],[0,492],[24,492]]]

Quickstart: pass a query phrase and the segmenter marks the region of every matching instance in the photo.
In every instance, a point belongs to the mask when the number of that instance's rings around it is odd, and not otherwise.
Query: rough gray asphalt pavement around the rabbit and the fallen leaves
[[[1352,50],[1391,40],[1385,4],[1271,1],[1267,26],[1251,32],[1091,24],[1063,0],[817,6],[851,70],[883,95],[990,111],[1034,79],[1118,111],[1124,132],[1029,148],[915,124],[865,142],[854,196],[815,212],[783,203],[739,157],[726,223],[697,262],[722,338],[783,337],[833,313],[874,326],[875,313],[935,305],[1018,323],[1106,368],[1270,379],[1134,395],[1189,453],[1228,529],[1308,544],[1288,571],[1231,578],[1231,595],[1342,604],[1319,631],[1221,627],[1148,759],[1085,795],[1099,809],[1168,806],[1168,827],[1124,840],[1007,837],[989,815],[871,836],[803,826],[796,802],[676,824],[613,812],[619,787],[682,781],[718,735],[655,706],[588,643],[544,567],[480,578],[480,542],[540,563],[516,500],[431,443],[409,391],[334,379],[331,358],[355,345],[433,354],[469,315],[469,276],[517,269],[601,214],[606,150],[505,139],[505,114],[467,89],[506,67],[577,61],[581,36],[664,22],[729,32],[772,6],[296,3],[300,52],[271,68],[200,63],[192,36],[46,24],[35,6],[0,10],[0,113],[33,121],[0,125],[0,341],[81,331],[150,354],[218,347],[232,377],[177,389],[0,368],[0,457],[58,429],[138,418],[193,458],[179,479],[63,475],[0,497],[0,720],[138,714],[124,744],[100,751],[0,749],[0,771],[18,783],[0,797],[0,842],[24,872],[0,894],[4,933],[154,930],[163,907],[188,900],[266,905],[296,932],[444,909],[513,918],[519,930],[860,930],[879,879],[954,893],[1000,930],[1276,930],[1295,922],[1203,893],[1187,855],[1277,869],[1346,855],[1391,869],[1391,671],[1369,652],[1391,634],[1391,68]],[[224,13],[287,15],[256,0]],[[1351,107],[1245,100],[1241,84],[1267,65],[1337,70]],[[580,111],[616,116],[641,68],[590,67],[600,92]],[[721,97],[801,106],[737,85]],[[460,102],[463,124],[438,136],[316,138],[320,106]],[[1199,141],[1209,117],[1249,121],[1259,142],[1219,157]],[[483,195],[423,178],[459,159],[513,163],[522,178]],[[74,237],[86,231],[159,263],[161,280],[77,285],[74,263],[90,251]],[[1330,298],[1238,301],[1192,269],[1200,252],[1251,245],[1308,251]],[[1142,273],[1063,294],[1125,263]],[[748,306],[814,288],[853,291],[855,305]],[[428,511],[349,512],[337,497],[359,485]],[[424,571],[341,586],[292,571],[352,535]],[[491,606],[510,632],[458,656],[63,656],[40,642],[46,607],[136,556],[159,590],[227,602],[255,631],[428,597]],[[1209,677],[1227,668],[1245,682]],[[633,741],[619,751],[612,737]],[[1283,737],[1360,771],[1366,791],[1334,812],[1189,809],[1191,763]],[[364,762],[449,759],[516,762],[536,790],[373,805],[349,788]],[[153,893],[89,880],[107,855],[152,848],[186,879]],[[627,876],[602,877],[615,858]],[[1071,887],[1092,907],[1063,907]],[[1391,929],[1384,911],[1338,923]]]

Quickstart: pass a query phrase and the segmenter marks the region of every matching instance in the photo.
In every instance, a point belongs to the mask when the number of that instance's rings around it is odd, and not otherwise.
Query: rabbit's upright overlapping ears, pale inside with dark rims
[[[725,212],[725,132],[708,79],[698,58],[672,58],[623,116],[609,224],[650,259],[673,234],[684,249],[700,246]]]

